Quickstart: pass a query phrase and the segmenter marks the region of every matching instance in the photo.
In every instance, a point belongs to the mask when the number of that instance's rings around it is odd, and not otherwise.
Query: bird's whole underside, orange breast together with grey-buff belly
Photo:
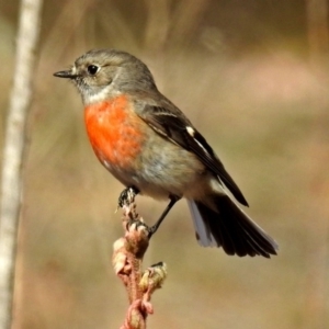
[[[100,161],[123,184],[136,186],[141,194],[156,198],[197,196],[204,190],[204,164],[156,133],[132,106],[121,95],[86,107],[87,133]]]

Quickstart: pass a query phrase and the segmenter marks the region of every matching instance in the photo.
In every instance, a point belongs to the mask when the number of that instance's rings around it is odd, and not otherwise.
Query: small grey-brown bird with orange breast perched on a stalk
[[[91,146],[125,191],[169,198],[150,235],[184,197],[200,245],[239,257],[276,254],[276,242],[227,193],[248,206],[213,148],[161,94],[143,61],[125,52],[94,49],[54,76],[78,88]]]

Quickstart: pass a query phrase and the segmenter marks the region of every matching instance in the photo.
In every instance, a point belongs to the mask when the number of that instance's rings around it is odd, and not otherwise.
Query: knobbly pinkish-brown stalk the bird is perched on
[[[113,266],[128,294],[129,307],[121,329],[145,329],[154,313],[150,298],[160,288],[167,266],[160,262],[143,271],[143,258],[149,246],[149,230],[136,212],[133,200],[123,206],[124,237],[114,242]]]

